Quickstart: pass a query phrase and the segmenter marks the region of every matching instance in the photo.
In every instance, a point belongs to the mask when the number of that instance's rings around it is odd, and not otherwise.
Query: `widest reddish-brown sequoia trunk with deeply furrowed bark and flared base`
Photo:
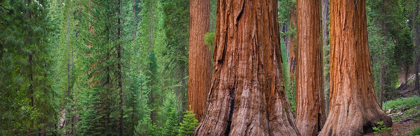
[[[219,0],[214,73],[194,135],[300,135],[281,70],[277,1]]]

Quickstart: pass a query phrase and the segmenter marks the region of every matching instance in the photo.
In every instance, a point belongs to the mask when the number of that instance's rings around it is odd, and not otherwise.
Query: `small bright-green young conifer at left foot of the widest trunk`
[[[178,136],[191,136],[197,126],[198,120],[195,119],[195,114],[193,111],[188,110],[187,114],[184,115]]]

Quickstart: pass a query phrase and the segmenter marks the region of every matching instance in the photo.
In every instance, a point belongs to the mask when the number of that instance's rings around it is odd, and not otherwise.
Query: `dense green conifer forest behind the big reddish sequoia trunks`
[[[189,3],[0,0],[0,135],[191,135],[198,121],[187,110]],[[211,51],[216,4],[210,0],[204,37]],[[418,95],[420,1],[366,4],[381,105]],[[329,1],[320,6],[328,109]],[[278,0],[278,15],[286,95],[295,112],[296,1]]]

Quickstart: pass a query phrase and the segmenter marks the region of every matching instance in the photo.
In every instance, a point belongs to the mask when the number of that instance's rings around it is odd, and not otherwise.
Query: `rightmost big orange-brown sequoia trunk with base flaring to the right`
[[[375,95],[365,0],[331,0],[331,94],[325,135],[363,135],[377,122],[392,125]]]

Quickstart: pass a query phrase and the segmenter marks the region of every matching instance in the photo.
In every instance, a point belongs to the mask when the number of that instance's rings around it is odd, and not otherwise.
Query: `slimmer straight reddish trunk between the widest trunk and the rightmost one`
[[[316,136],[325,122],[320,0],[297,0],[296,126]]]

